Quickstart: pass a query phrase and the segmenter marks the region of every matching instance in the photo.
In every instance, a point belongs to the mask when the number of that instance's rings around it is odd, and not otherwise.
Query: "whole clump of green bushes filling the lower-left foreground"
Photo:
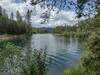
[[[47,71],[45,50],[27,50],[7,43],[0,48],[0,75],[45,75]]]

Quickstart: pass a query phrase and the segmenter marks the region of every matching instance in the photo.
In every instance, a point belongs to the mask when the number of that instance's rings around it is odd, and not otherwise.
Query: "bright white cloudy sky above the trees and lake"
[[[16,11],[19,10],[23,17],[26,15],[28,9],[33,10],[31,18],[33,27],[55,27],[64,24],[73,25],[77,22],[74,10],[60,10],[58,14],[57,11],[51,11],[49,21],[45,24],[41,24],[43,19],[40,16],[45,13],[47,9],[41,8],[40,4],[31,6],[30,0],[27,0],[27,2],[21,2],[20,0],[0,0],[0,6],[6,9],[9,15],[11,12],[16,13]],[[59,8],[55,7],[55,10],[59,10]]]

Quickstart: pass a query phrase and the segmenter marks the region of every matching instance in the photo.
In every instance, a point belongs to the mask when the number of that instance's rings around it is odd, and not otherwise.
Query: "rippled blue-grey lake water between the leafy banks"
[[[34,34],[26,48],[47,50],[51,62],[47,75],[63,75],[64,70],[75,66],[80,60],[80,42],[77,38]]]

